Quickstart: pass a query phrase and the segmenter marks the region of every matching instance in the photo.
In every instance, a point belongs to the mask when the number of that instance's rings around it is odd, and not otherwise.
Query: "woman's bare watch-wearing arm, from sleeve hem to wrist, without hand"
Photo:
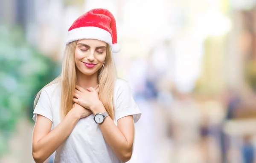
[[[91,108],[93,114],[106,112],[102,103]],[[116,156],[122,161],[127,162],[131,159],[132,147],[134,142],[134,120],[133,116],[129,115],[122,117],[117,121],[117,126],[111,119],[106,117],[99,128],[103,137],[108,142]]]

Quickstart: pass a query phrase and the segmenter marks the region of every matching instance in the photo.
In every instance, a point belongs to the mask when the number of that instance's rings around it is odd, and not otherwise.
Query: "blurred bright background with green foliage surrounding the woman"
[[[143,113],[129,163],[256,163],[256,0],[0,0],[0,163],[34,162],[35,94],[93,8]]]

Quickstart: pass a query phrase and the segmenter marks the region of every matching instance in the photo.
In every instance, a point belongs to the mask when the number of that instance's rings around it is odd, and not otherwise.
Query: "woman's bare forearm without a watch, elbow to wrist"
[[[49,134],[33,143],[33,157],[37,163],[44,162],[71,134],[79,117],[69,112],[64,120]]]

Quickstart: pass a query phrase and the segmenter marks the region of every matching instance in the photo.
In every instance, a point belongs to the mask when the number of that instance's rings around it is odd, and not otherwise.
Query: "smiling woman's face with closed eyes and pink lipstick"
[[[85,75],[96,73],[103,65],[107,53],[107,44],[103,41],[78,40],[75,50],[76,67]]]

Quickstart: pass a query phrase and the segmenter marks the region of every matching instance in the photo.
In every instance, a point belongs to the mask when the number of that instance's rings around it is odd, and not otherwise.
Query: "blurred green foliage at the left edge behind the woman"
[[[20,117],[32,119],[35,94],[59,65],[26,43],[22,29],[0,26],[0,157]]]

